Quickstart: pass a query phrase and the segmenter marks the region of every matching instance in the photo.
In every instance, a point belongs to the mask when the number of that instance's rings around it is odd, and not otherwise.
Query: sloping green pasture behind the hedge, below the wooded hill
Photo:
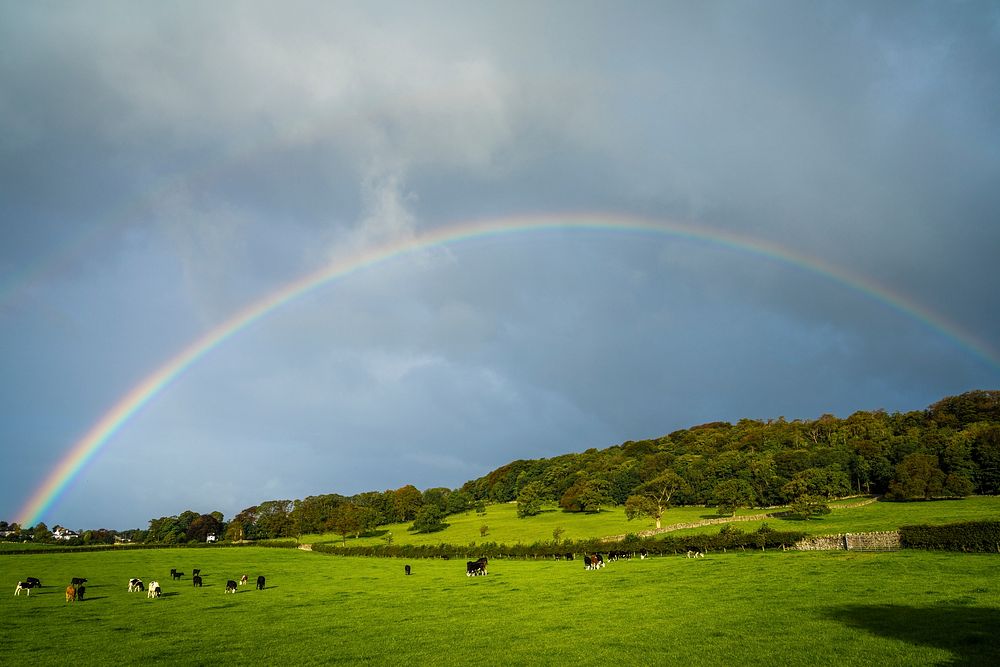
[[[908,524],[943,524],[956,521],[975,521],[982,519],[996,520],[1000,517],[1000,497],[972,496],[961,500],[935,500],[930,502],[889,503],[877,502],[863,507],[845,508],[844,505],[857,503],[861,499],[836,501],[831,503],[832,512],[826,516],[809,521],[799,519],[768,519],[769,526],[776,530],[804,531],[813,535],[829,535],[835,533],[861,533],[876,530],[894,530]],[[775,512],[780,510],[741,509],[738,516],[748,516]],[[679,523],[692,523],[702,519],[720,518],[713,508],[707,507],[676,507],[663,516],[663,526]],[[565,529],[563,539],[579,540],[606,535],[624,535],[649,530],[655,526],[649,519],[629,521],[622,507],[611,507],[596,514],[581,514],[563,512],[558,508],[547,508],[538,516],[525,519],[517,518],[517,505],[505,503],[490,505],[485,516],[475,512],[449,516],[445,519],[448,528],[437,533],[416,534],[407,530],[410,524],[400,523],[382,526],[370,536],[359,539],[349,537],[349,546],[383,544],[386,532],[391,532],[396,544],[469,544],[475,542],[498,542],[503,544],[531,544],[552,539],[552,530],[556,527]],[[489,526],[489,533],[482,537],[479,532],[483,524]],[[760,527],[760,521],[736,522],[735,525],[743,531],[753,531]],[[700,528],[686,529],[671,533],[684,535],[689,533],[717,533],[721,526],[710,525]],[[318,542],[340,543],[338,535],[303,535],[301,542],[314,544]]]

